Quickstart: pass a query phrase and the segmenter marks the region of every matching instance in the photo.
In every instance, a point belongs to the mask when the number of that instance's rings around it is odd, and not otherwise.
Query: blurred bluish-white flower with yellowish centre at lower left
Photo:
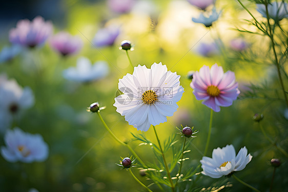
[[[45,161],[48,157],[48,145],[39,134],[32,135],[16,127],[6,132],[4,140],[6,146],[1,147],[1,154],[11,163]]]

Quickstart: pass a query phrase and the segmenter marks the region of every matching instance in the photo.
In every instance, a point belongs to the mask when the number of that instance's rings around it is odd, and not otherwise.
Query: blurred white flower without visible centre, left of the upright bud
[[[63,76],[67,80],[85,83],[102,79],[108,72],[109,67],[105,61],[98,61],[92,65],[89,59],[80,57],[77,66],[64,70]]]

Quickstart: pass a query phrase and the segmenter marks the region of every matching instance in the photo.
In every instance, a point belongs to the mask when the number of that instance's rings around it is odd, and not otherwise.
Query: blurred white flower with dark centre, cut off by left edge
[[[20,87],[15,80],[0,75],[0,132],[10,128],[13,117],[19,117],[24,109],[34,104],[34,95],[29,87]]]

